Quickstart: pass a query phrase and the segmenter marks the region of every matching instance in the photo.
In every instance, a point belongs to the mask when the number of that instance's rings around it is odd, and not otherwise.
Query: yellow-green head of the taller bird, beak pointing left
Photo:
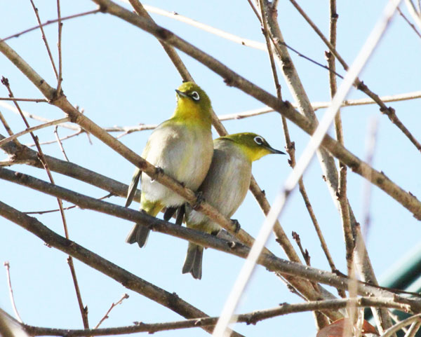
[[[175,90],[177,92],[177,109],[175,115],[187,119],[197,119],[211,123],[210,99],[199,85],[185,82]]]

